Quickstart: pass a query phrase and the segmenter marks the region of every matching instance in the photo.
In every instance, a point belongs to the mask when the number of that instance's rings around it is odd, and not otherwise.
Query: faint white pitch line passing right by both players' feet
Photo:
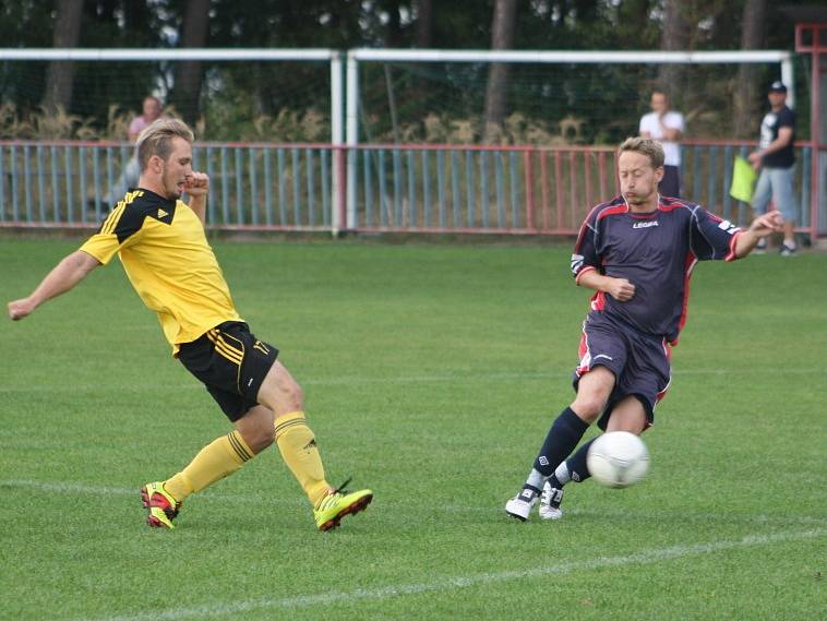
[[[100,487],[91,483],[79,482],[63,482],[63,481],[37,481],[32,479],[0,479],[0,488],[21,488],[26,490],[35,490],[43,492],[58,492],[58,493],[88,493],[99,494],[107,493],[110,495],[137,495],[137,487],[121,488],[121,487]],[[207,501],[232,501],[239,502],[240,494],[235,493],[221,493],[214,490],[207,490],[200,494],[199,498]],[[266,505],[281,505],[281,506],[304,506],[303,500],[297,495],[295,499],[279,498],[276,495],[266,495],[264,493],[256,494],[243,494],[243,502],[245,504],[266,504]],[[418,503],[404,503],[404,502],[387,502],[383,501],[382,505],[388,509],[409,510],[411,505]],[[478,514],[491,514],[492,516],[502,516],[502,509],[499,505],[479,504],[475,506],[460,505],[460,504],[442,504],[439,506],[431,506],[431,512],[446,512],[446,513],[478,513]],[[612,520],[632,520],[637,521],[642,517],[660,517],[662,520],[684,520],[684,521],[723,521],[729,523],[740,524],[786,524],[786,525],[799,525],[799,526],[827,526],[827,518],[813,517],[810,515],[766,515],[759,513],[753,514],[740,514],[740,513],[693,513],[683,510],[675,511],[657,511],[647,510],[643,513],[631,512],[628,510],[623,511],[607,511],[603,507],[599,510],[588,509],[570,509],[566,510],[568,515],[582,515],[584,517],[603,517]]]

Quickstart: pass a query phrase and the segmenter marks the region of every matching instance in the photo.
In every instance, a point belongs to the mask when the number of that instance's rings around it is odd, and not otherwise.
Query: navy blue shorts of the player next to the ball
[[[666,395],[672,372],[666,338],[612,320],[601,311],[590,311],[583,322],[579,357],[573,379],[575,391],[580,378],[595,367],[603,366],[614,373],[614,390],[598,421],[601,429],[606,429],[614,406],[627,396],[643,404],[648,425],[655,421],[655,406]]]

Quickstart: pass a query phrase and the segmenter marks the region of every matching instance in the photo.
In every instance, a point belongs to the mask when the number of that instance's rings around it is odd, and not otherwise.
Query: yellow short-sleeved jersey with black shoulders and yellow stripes
[[[182,201],[130,191],[81,250],[104,265],[118,253],[173,355],[219,323],[241,321],[204,226]]]

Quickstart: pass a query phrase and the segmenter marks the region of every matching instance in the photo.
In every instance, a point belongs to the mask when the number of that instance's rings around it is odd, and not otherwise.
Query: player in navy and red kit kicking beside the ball
[[[572,254],[575,283],[595,289],[583,324],[574,402],[554,420],[523,489],[505,505],[522,521],[562,516],[563,486],[589,477],[591,442],[573,451],[594,422],[603,431],[640,434],[669,387],[670,350],[686,318],[688,280],[698,261],[746,256],[780,230],[769,212],[742,230],[700,205],[658,194],[660,143],[632,138],[620,145],[621,194],[591,210]]]

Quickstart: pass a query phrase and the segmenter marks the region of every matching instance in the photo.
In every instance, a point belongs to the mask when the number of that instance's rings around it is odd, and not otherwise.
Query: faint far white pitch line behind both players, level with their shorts
[[[418,383],[439,383],[439,382],[495,382],[513,380],[552,380],[556,378],[571,377],[571,370],[558,372],[537,372],[537,373],[476,373],[476,374],[445,374],[445,375],[401,375],[396,378],[319,378],[305,379],[300,383],[305,386],[341,386],[341,385],[360,385],[360,384],[418,384]],[[806,369],[756,369],[756,368],[738,368],[738,369],[679,369],[672,371],[673,375],[757,375],[768,374],[777,375],[825,375],[827,369],[806,368]],[[197,382],[187,382],[182,384],[65,384],[65,385],[25,385],[25,386],[0,386],[0,394],[8,393],[64,393],[79,391],[98,391],[111,394],[118,391],[130,393],[160,391],[182,391],[182,390],[204,390],[204,386]]]

